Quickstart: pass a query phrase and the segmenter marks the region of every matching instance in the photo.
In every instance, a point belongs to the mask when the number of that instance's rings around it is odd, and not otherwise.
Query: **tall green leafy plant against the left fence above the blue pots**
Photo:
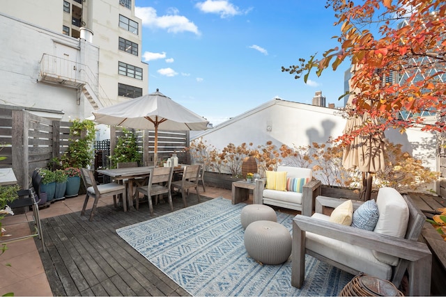
[[[95,141],[95,124],[91,120],[73,120],[70,127],[70,145],[61,156],[63,168],[91,165]]]

